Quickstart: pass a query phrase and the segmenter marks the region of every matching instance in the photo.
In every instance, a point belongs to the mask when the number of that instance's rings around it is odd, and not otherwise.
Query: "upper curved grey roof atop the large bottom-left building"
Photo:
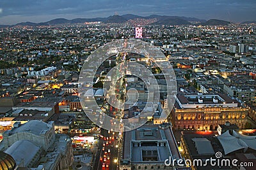
[[[41,132],[44,133],[45,131],[49,130],[49,127],[47,125],[48,124],[46,124],[45,122],[41,122],[39,120],[31,120],[26,124],[20,125],[19,128],[13,128],[12,133],[31,132],[39,136]]]

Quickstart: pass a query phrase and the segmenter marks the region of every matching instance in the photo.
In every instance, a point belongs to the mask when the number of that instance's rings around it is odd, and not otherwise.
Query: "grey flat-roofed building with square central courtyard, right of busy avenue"
[[[177,148],[170,125],[143,125],[124,134],[123,159],[133,163],[163,163],[173,157],[179,159]]]

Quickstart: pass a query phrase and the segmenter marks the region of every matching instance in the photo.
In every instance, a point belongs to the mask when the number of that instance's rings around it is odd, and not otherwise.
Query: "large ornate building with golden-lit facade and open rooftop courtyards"
[[[222,94],[177,94],[172,110],[172,124],[178,130],[217,130],[219,124],[230,122],[239,128],[246,124],[248,108]]]

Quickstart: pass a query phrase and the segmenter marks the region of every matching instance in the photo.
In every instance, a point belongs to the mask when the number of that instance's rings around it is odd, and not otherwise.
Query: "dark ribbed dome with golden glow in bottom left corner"
[[[0,169],[13,170],[16,167],[15,160],[7,153],[0,152]]]

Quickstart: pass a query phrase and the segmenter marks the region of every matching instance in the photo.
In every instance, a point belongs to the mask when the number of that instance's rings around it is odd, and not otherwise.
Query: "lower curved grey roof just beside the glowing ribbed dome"
[[[30,141],[21,140],[13,143],[5,152],[12,155],[17,165],[27,167],[39,151],[40,147]]]

